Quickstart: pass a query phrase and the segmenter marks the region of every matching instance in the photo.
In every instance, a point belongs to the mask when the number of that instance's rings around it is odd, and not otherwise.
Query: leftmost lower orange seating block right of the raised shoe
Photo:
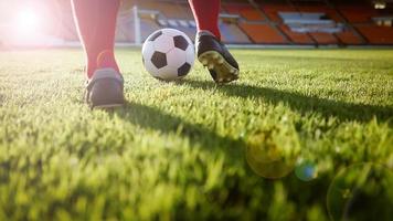
[[[285,44],[287,41],[268,24],[241,23],[240,27],[255,43]]]

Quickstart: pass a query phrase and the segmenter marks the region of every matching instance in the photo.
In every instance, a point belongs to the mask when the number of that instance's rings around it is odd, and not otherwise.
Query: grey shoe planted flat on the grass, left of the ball
[[[100,69],[87,81],[86,102],[92,108],[110,108],[124,104],[124,80],[114,69]]]

